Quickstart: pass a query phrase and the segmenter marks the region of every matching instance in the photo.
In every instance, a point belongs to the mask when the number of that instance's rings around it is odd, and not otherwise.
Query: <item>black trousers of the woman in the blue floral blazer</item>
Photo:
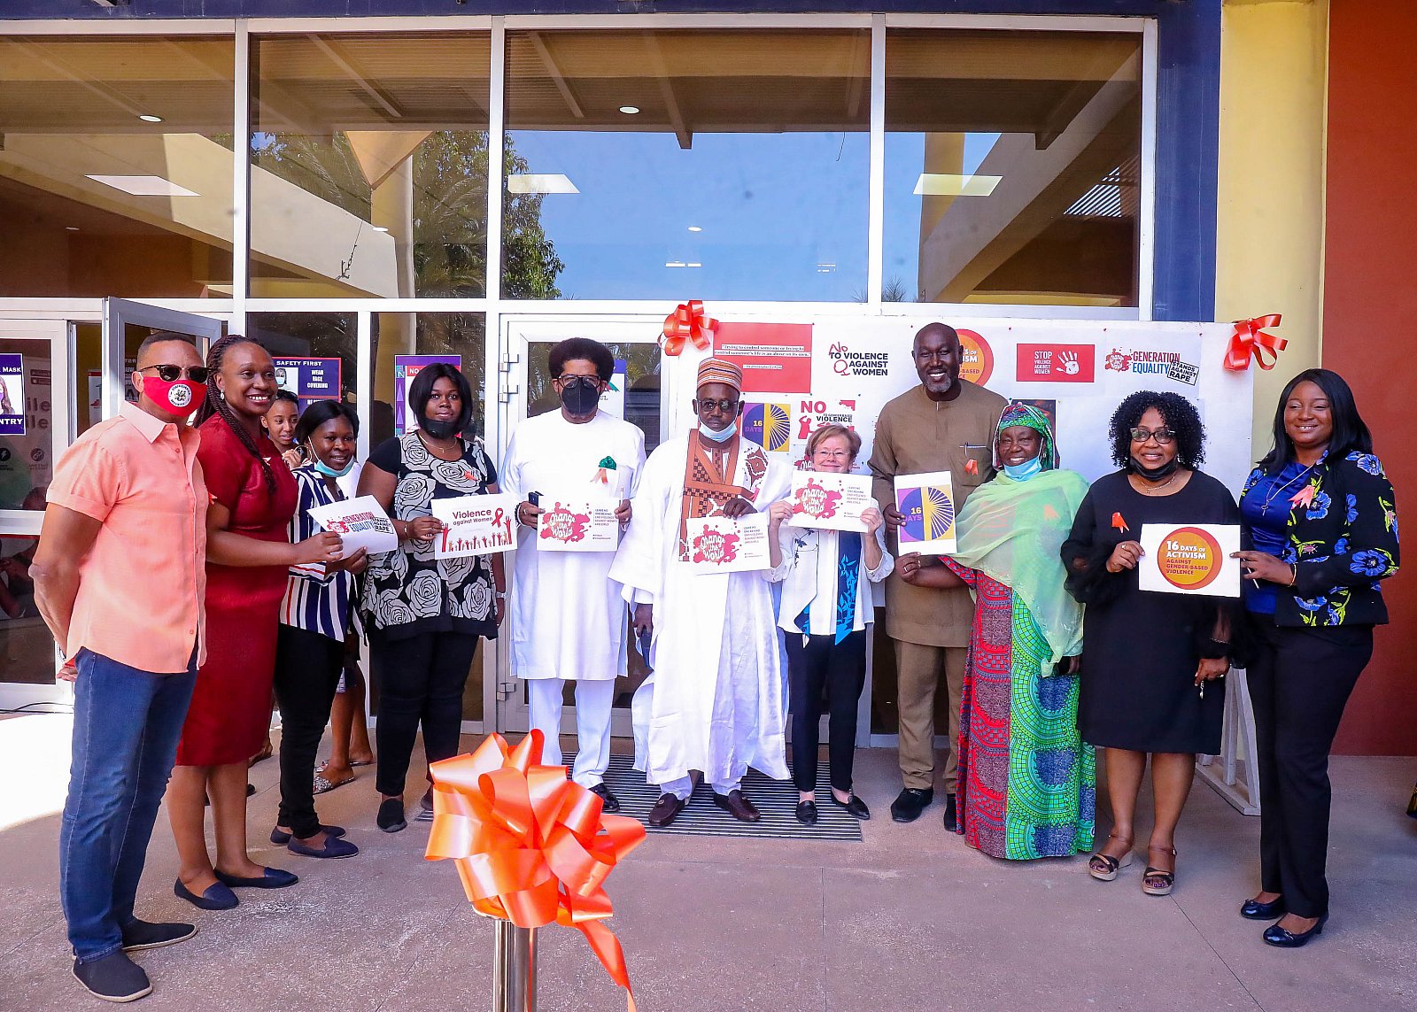
[[[1373,626],[1284,628],[1251,615],[1246,669],[1260,774],[1260,889],[1289,913],[1328,913],[1329,748],[1373,656]]]

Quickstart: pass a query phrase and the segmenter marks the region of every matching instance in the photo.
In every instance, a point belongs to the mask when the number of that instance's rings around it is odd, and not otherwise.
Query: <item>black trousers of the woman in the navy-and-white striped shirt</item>
[[[344,643],[281,625],[275,641],[275,699],[281,707],[281,812],[276,825],[299,838],[320,832],[315,814],[315,755],[344,668]]]

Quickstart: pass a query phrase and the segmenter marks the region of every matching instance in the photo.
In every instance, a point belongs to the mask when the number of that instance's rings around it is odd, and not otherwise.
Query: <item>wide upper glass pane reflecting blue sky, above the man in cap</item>
[[[866,31],[507,33],[502,293],[864,300]]]

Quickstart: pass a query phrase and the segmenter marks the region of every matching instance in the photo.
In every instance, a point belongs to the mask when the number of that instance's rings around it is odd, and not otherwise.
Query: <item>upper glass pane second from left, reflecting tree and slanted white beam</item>
[[[251,295],[485,295],[489,37],[251,50]]]

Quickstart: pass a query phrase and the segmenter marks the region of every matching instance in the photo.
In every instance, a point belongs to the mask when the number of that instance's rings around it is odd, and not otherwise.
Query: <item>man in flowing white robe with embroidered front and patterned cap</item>
[[[649,455],[611,567],[635,604],[636,631],[652,632],[653,672],[632,704],[635,767],[662,791],[652,826],[669,825],[689,804],[691,771],[713,785],[716,805],[744,822],[760,818],[741,789],[748,767],[788,775],[767,570],[700,574],[684,530],[693,517],[767,510],[788,495],[792,473],[740,438],[737,366],[706,359],[696,390],[699,427]]]

